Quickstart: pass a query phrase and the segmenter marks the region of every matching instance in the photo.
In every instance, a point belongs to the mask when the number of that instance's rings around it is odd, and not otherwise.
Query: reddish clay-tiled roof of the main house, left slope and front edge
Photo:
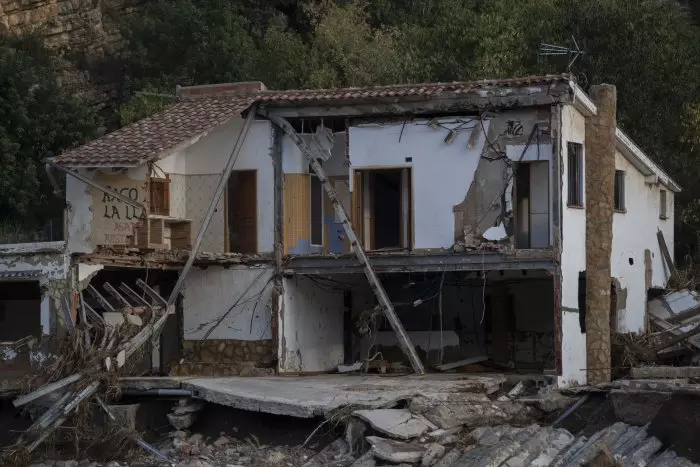
[[[455,83],[260,91],[245,95],[224,92],[216,96],[185,98],[156,115],[64,152],[54,160],[70,167],[138,166],[203,136],[240,115],[255,102],[266,105],[313,105],[455,97],[480,89],[550,85],[570,79],[570,75],[565,74]]]

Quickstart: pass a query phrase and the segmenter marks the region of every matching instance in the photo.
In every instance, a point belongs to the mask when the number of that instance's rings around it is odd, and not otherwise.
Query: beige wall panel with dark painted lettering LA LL
[[[125,174],[98,174],[95,181],[144,206],[148,203],[146,180],[133,180]],[[96,245],[128,245],[134,227],[142,225],[146,213],[115,196],[92,189],[92,238]]]

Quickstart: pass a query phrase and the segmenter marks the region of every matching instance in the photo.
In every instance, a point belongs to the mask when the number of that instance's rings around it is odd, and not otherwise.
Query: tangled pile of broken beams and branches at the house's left
[[[139,294],[122,283],[120,290],[105,283],[105,290],[119,303],[113,306],[91,285],[88,291],[94,296],[105,313],[97,313],[81,296],[79,324],[73,321],[68,304],[64,306],[64,317],[69,335],[47,362],[44,381],[36,390],[15,399],[15,407],[29,406],[34,413],[34,423],[17,440],[5,448],[0,461],[3,465],[23,465],[32,453],[44,442],[50,440],[57,428],[71,421],[76,438],[93,441],[86,431],[93,407],[88,403],[94,400],[115,427],[119,421],[105,400],[117,396],[120,376],[136,371],[143,360],[144,350],[151,339],[157,337],[168,316],[167,302],[145,282],[137,285]],[[127,298],[128,297],[128,298]],[[108,320],[105,315],[119,316],[119,320]],[[150,358],[148,359],[150,362]],[[150,365],[149,365],[150,367]],[[142,448],[157,453],[136,433],[129,435]],[[76,441],[77,443],[77,441]],[[164,460],[167,460],[163,456]]]

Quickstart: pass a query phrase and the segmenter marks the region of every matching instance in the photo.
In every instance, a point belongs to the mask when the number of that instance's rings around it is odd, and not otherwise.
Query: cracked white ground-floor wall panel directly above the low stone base
[[[271,339],[272,273],[272,268],[193,268],[183,291],[185,340],[205,338],[236,303],[206,339]]]

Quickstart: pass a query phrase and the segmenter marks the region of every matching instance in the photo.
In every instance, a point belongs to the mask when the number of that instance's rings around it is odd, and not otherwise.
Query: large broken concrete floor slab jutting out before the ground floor
[[[300,418],[327,416],[340,407],[390,408],[417,395],[445,398],[455,393],[492,392],[502,375],[269,376],[189,378],[182,389],[193,397],[230,407]]]

